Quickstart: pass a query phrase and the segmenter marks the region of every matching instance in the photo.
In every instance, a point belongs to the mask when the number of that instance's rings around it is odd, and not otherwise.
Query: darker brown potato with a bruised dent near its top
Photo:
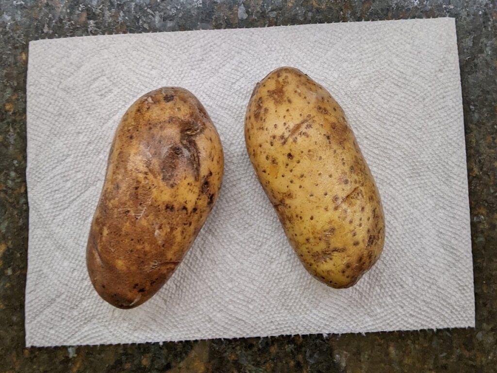
[[[94,288],[132,308],[170,278],[209,215],[224,157],[202,104],[182,88],[140,97],[126,111],[86,247]]]

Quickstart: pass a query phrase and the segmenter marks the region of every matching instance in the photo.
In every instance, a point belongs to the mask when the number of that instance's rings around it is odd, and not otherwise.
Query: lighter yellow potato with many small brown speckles
[[[245,117],[247,151],[305,268],[349,287],[378,260],[385,240],[380,195],[342,108],[301,71],[258,83]]]

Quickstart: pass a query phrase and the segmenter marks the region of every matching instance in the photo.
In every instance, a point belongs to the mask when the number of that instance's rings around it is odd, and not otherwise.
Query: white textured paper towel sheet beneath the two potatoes
[[[349,289],[304,270],[246,154],[250,92],[282,65],[342,105],[381,192],[384,253]],[[161,86],[203,102],[225,179],[173,277],[144,305],[119,310],[91,286],[86,239],[116,125]],[[28,346],[474,326],[453,19],[35,41],[27,94]]]

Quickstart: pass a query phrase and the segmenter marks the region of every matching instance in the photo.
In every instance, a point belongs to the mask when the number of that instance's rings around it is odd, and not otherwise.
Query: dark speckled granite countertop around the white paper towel
[[[24,348],[30,40],[445,16],[457,20],[476,329]],[[0,30],[0,373],[497,370],[495,0],[0,0]]]

